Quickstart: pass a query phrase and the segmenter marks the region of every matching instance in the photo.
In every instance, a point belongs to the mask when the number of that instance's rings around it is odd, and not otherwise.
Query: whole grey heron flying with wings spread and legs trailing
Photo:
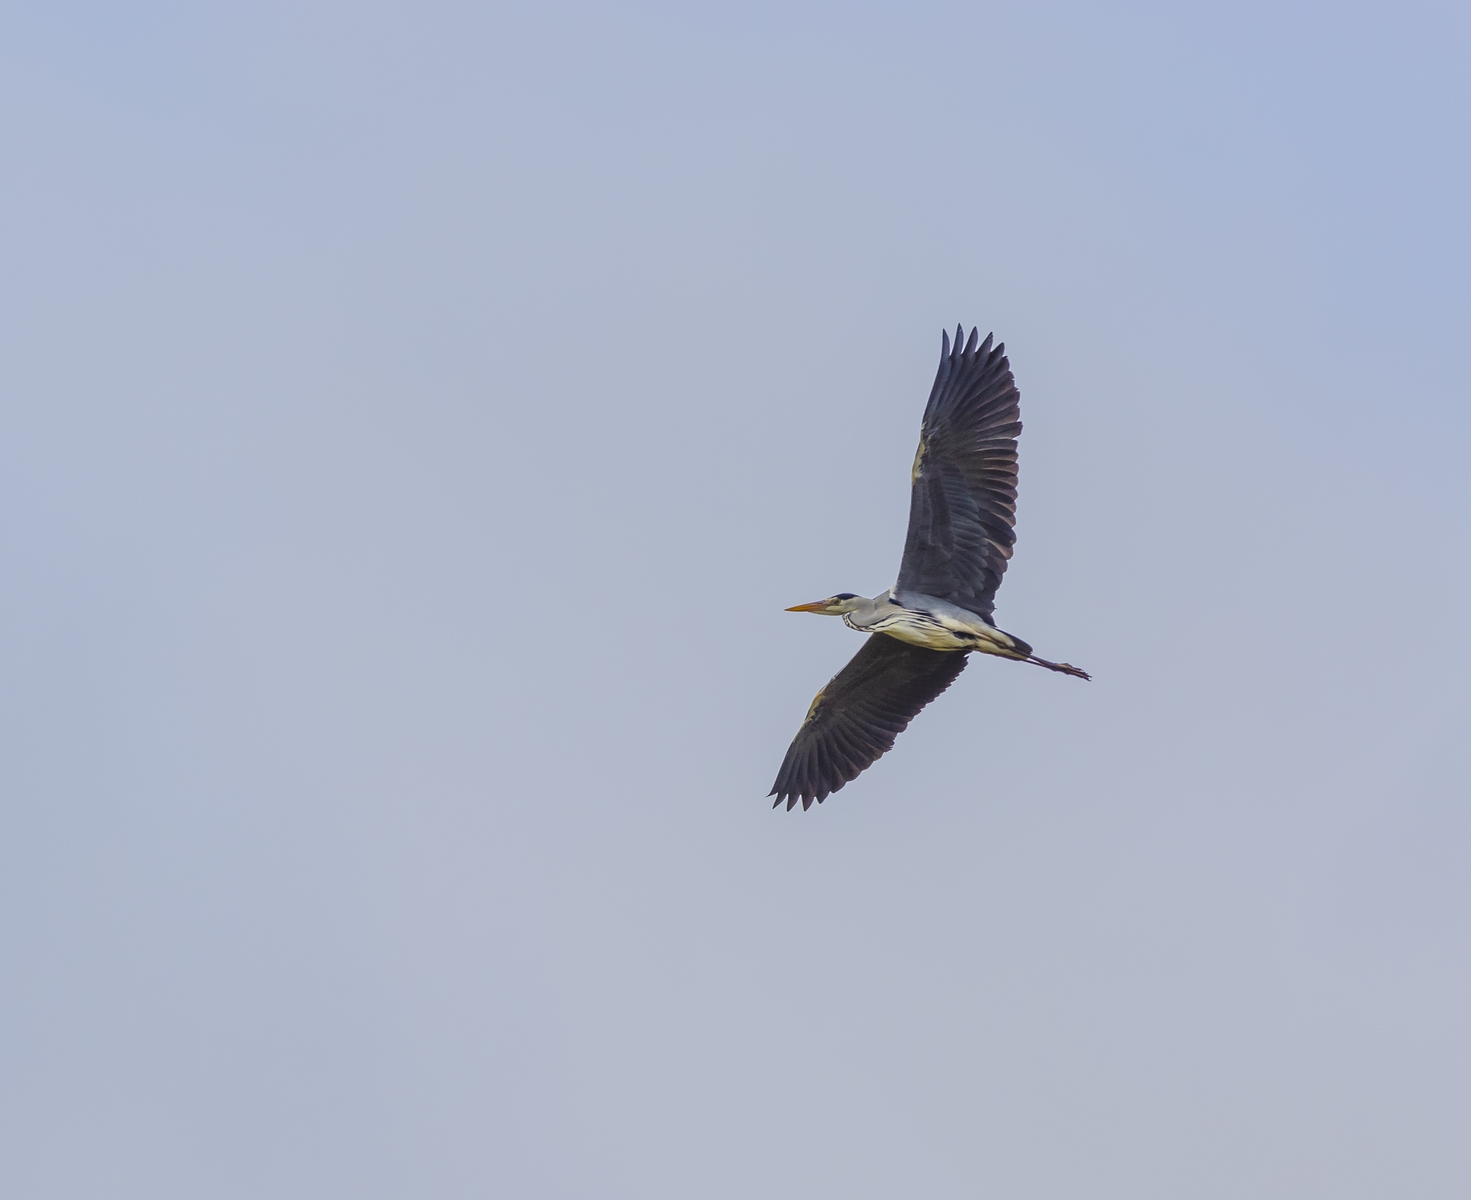
[[[841,616],[869,634],[816,694],[771,788],[775,806],[819,804],[890,750],[918,712],[955,682],[971,651],[1087,679],[1037,657],[991,621],[1016,541],[1016,435],[1021,409],[1006,347],[975,329],[961,346],[941,334],[940,371],[909,474],[909,535],[899,581],[865,599],[840,591],[787,612]]]

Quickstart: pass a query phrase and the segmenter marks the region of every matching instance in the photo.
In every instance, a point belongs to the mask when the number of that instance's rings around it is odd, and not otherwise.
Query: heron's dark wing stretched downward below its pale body
[[[777,804],[786,800],[790,812],[800,800],[808,809],[856,779],[893,747],[915,713],[955,682],[965,659],[964,651],[871,634],[808,709],[769,793]]]

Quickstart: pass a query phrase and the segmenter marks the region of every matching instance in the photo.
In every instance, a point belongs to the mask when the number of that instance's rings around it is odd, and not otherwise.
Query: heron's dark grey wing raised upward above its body
[[[1006,347],[949,335],[919,426],[909,537],[897,591],[949,600],[987,621],[1016,535],[1021,407]]]

